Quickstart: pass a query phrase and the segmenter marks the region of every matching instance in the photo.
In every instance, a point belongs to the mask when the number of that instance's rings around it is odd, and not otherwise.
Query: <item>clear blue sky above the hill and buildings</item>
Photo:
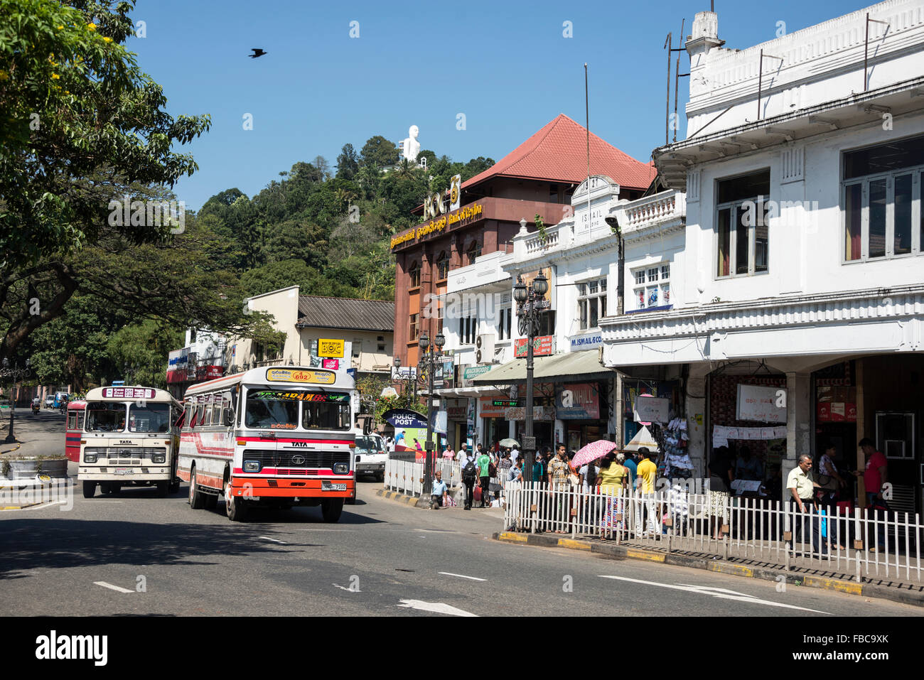
[[[743,49],[775,38],[778,21],[792,32],[868,4],[720,0],[719,37]],[[147,37],[128,49],[164,86],[171,115],[212,115],[208,133],[178,148],[200,170],[177,183],[176,195],[198,210],[225,188],[253,196],[319,154],[334,167],[346,142],[359,152],[373,135],[402,140],[411,124],[424,149],[499,160],[555,115],[584,124],[585,61],[590,130],[648,161],[664,139],[664,39],[673,31],[676,45],[681,19],[688,34],[704,9],[704,0],[139,0],[132,18],[145,21]],[[359,38],[349,36],[351,21]],[[563,36],[565,21],[572,38]],[[267,55],[250,59],[251,47]],[[681,73],[688,67],[681,53]],[[460,113],[464,130],[456,129]],[[252,130],[243,129],[245,114]]]

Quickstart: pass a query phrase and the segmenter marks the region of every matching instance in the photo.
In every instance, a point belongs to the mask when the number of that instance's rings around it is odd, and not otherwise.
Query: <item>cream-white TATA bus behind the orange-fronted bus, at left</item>
[[[179,401],[153,387],[94,387],[85,402],[77,473],[84,498],[97,484],[103,493],[129,484],[154,485],[162,497],[179,491]]]

